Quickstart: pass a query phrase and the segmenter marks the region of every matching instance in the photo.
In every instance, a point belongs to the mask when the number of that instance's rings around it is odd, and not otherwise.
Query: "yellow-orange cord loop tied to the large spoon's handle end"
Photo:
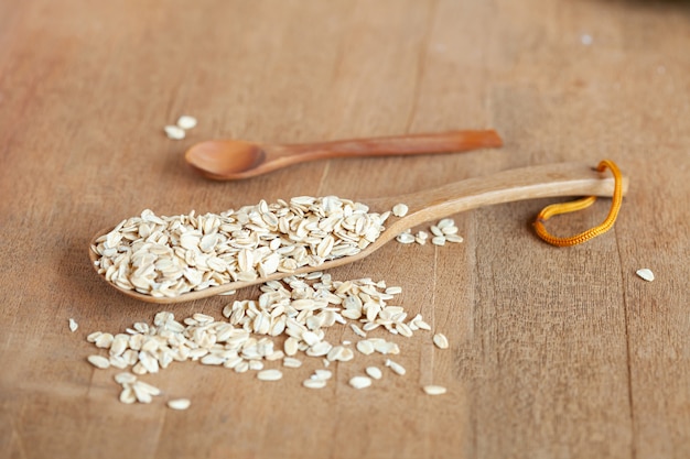
[[[549,231],[547,231],[547,228],[543,226],[545,221],[547,221],[554,215],[574,212],[578,210],[586,209],[592,204],[594,204],[594,201],[596,200],[596,196],[590,196],[586,198],[574,200],[572,203],[552,204],[545,207],[537,216],[537,221],[535,221],[535,230],[541,239],[543,239],[551,245],[557,247],[575,245],[589,241],[590,239],[596,238],[597,236],[605,233],[613,227],[613,223],[616,221],[616,217],[618,217],[621,204],[623,203],[623,176],[621,174],[621,171],[618,170],[618,166],[616,166],[613,161],[604,160],[599,163],[599,166],[596,167],[599,172],[604,172],[606,171],[606,168],[611,170],[615,181],[611,210],[608,211],[608,216],[606,217],[606,219],[600,226],[581,232],[580,234],[575,234],[570,238],[559,238],[556,236],[551,236]]]

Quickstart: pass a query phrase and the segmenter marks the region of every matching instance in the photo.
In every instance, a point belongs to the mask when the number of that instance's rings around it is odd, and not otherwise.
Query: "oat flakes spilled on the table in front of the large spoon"
[[[205,314],[177,320],[172,313],[160,312],[152,324],[137,323],[121,334],[93,332],[87,340],[107,354],[89,356],[88,361],[99,369],[130,370],[115,375],[121,385],[122,403],[150,403],[162,391],[140,376],[185,361],[237,373],[254,371],[258,380],[277,381],[282,371],[300,368],[304,359],[320,359],[323,369],[305,379],[303,385],[322,389],[332,376],[328,367],[348,362],[356,353],[380,353],[386,357],[384,367],[398,375],[406,373],[391,359],[400,353],[399,346],[393,340],[370,337],[374,330],[391,338],[431,330],[421,315],[408,317],[402,306],[391,303],[401,288],[385,282],[334,281],[330,274],[316,272],[268,282],[260,291],[256,300],[235,300],[225,306],[220,320]],[[326,331],[336,324],[351,327],[358,340],[331,342]],[[440,349],[449,347],[442,334],[434,335],[433,342]],[[378,367],[368,367],[365,373],[352,378],[349,384],[364,389],[382,376]],[[438,385],[423,390],[429,394],[445,392]],[[170,400],[169,406],[184,409],[190,401]]]

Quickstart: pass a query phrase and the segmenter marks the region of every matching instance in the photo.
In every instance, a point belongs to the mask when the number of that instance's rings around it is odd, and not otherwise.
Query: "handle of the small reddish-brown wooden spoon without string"
[[[451,131],[441,133],[290,144],[282,145],[280,147],[279,155],[292,156],[292,160],[295,162],[298,162],[299,157],[299,162],[303,162],[314,159],[344,156],[452,153],[502,145],[502,139],[494,130]]]

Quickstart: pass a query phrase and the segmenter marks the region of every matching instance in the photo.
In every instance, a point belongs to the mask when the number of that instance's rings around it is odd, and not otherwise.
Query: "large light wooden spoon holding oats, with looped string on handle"
[[[614,179],[605,177],[593,167],[585,164],[563,163],[499,172],[485,177],[468,178],[438,188],[392,198],[363,200],[364,204],[369,206],[371,211],[379,212],[390,210],[392,206],[398,203],[405,203],[409,207],[409,212],[402,218],[396,219],[395,217],[390,217],[389,221],[387,221],[387,229],[381,232],[376,242],[371,243],[356,255],[331,260],[319,266],[303,266],[294,273],[323,271],[356,262],[365,256],[369,256],[386,242],[391,241],[409,228],[413,228],[427,221],[439,220],[464,210],[492,204],[557,196],[612,196],[613,188]],[[623,189],[624,192],[627,190],[627,178],[624,178]],[[89,250],[91,262],[98,260],[98,255],[93,250],[93,247],[96,245],[96,239],[103,234],[107,234],[111,229],[112,228],[100,231],[91,240],[91,250]],[[96,267],[95,263],[91,264]],[[254,284],[280,280],[289,275],[290,274],[285,273],[274,273],[270,276],[250,282],[233,282],[216,287],[185,293],[172,298],[153,297],[151,295],[120,288],[110,282],[108,282],[108,284],[123,294],[143,302],[168,304],[215,296]],[[105,277],[101,278],[105,280]]]

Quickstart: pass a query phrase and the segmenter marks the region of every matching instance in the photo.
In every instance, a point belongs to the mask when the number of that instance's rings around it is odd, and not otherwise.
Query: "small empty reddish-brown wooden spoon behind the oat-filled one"
[[[454,131],[334,142],[277,145],[242,140],[211,140],[186,151],[186,162],[216,181],[255,177],[306,161],[464,152],[502,146],[495,131]]]

